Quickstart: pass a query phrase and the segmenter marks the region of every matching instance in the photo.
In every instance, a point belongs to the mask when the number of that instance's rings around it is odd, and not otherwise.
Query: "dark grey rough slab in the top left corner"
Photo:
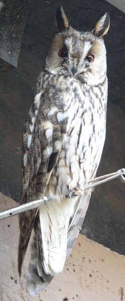
[[[0,3],[0,57],[17,67],[30,0]]]

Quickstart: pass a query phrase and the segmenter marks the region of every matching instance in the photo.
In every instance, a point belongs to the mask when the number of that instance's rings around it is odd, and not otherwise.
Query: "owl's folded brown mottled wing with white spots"
[[[53,92],[54,91],[54,92]],[[51,172],[61,149],[64,124],[61,127],[55,105],[55,88],[36,95],[24,125],[22,152],[22,188],[20,204],[44,195]],[[58,91],[57,91],[57,97]],[[54,106],[54,108],[53,108]],[[62,134],[62,133],[63,134]],[[19,274],[38,209],[20,214]]]

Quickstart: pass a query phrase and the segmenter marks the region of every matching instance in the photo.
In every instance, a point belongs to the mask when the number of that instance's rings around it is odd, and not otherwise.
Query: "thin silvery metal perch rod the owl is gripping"
[[[89,184],[87,186],[85,186],[83,190],[86,190],[86,189],[89,189],[89,188],[93,188],[93,187],[95,187],[97,185],[103,184],[103,183],[105,183],[107,181],[110,181],[110,180],[112,180],[114,178],[117,178],[119,176],[121,177],[122,182],[125,181],[125,168],[122,168],[122,169],[120,169],[120,170],[118,170],[116,172],[113,172],[113,173],[105,174],[105,175],[102,175],[100,177],[91,179],[88,182]],[[70,198],[71,196],[69,195],[67,197]],[[12,217],[14,215],[17,215],[19,213],[22,213],[22,212],[25,212],[25,211],[28,211],[28,210],[33,210],[33,209],[38,208],[38,207],[40,207],[42,205],[46,205],[52,199],[54,199],[54,197],[44,196],[41,199],[33,200],[30,203],[26,203],[26,204],[14,207],[12,209],[5,210],[5,211],[3,211],[3,212],[0,213],[0,220]]]

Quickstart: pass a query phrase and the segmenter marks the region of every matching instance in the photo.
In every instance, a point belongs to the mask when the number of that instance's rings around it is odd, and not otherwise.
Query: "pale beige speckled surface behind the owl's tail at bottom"
[[[1,210],[16,206],[0,193]],[[3,220],[0,232],[0,301],[123,301],[125,256],[79,234],[64,270],[45,291],[30,296],[17,272],[18,217]]]

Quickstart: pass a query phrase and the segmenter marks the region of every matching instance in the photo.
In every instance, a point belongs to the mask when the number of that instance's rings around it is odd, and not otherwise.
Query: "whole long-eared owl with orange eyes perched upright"
[[[106,51],[97,36],[107,32],[109,17],[104,16],[94,34],[81,33],[69,27],[64,11],[58,10],[61,32],[52,43],[26,118],[21,203],[43,195],[54,198],[20,216],[20,273],[35,229],[28,271],[32,294],[62,271],[88,207],[91,191],[85,192],[84,187],[95,177],[100,161],[107,78]]]

